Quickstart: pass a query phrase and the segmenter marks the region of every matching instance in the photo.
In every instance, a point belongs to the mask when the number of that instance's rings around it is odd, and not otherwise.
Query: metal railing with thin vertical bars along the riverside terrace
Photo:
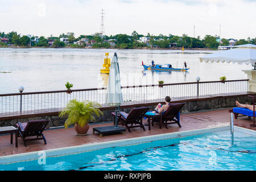
[[[122,86],[123,101],[146,102],[162,100],[166,96],[192,97],[214,94],[247,92],[248,80],[227,80],[185,82],[162,85]],[[76,89],[48,92],[28,92],[0,94],[0,114],[16,111],[59,109],[65,107],[69,100],[89,100],[105,104],[106,88]]]

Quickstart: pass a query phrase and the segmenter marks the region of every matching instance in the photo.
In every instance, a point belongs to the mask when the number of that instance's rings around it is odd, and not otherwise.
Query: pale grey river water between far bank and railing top
[[[228,63],[200,63],[199,57],[216,51],[149,50],[149,49],[68,49],[68,48],[0,48],[0,93],[17,93],[20,85],[24,92],[65,90],[67,81],[72,89],[106,86],[108,75],[100,74],[105,52],[112,60],[117,52],[121,85],[165,84],[175,82],[215,81],[247,78],[243,69],[251,65]],[[144,64],[172,64],[188,72],[145,71]]]

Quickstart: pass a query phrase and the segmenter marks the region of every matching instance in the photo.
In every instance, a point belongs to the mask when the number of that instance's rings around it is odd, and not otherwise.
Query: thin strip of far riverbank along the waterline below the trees
[[[26,47],[26,46],[6,46],[0,48],[53,48],[53,49],[59,49],[59,48],[67,48],[67,49],[124,49],[124,48],[92,48],[92,47]],[[177,47],[177,48],[148,48],[148,47],[142,47],[142,48],[127,48],[129,49],[148,49],[148,50],[182,50],[182,48]],[[194,50],[194,51],[214,51],[216,49],[210,49],[210,48],[184,48],[184,50]]]

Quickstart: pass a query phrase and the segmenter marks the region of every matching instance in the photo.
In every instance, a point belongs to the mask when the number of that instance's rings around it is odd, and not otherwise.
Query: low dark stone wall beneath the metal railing
[[[225,107],[236,107],[235,101],[238,100],[242,104],[253,104],[253,100],[250,97],[242,96],[242,97],[228,97],[228,98],[217,98],[212,100],[200,100],[200,101],[189,101],[186,102],[186,104],[181,109],[181,113],[188,113],[192,111],[200,111],[200,110],[208,110],[208,109],[220,109]],[[154,109],[156,105],[151,105],[151,109]],[[129,113],[129,111],[133,109],[127,108],[127,109],[121,109],[121,111],[125,111],[126,113]],[[100,118],[97,118],[94,122],[102,122],[102,121],[112,121],[113,117],[111,116],[111,113],[114,112],[114,110],[104,110],[104,115]],[[65,118],[59,118],[58,115],[52,115],[52,116],[44,116],[44,117],[34,117],[34,118],[22,118],[22,119],[10,119],[6,121],[0,121],[0,126],[10,126],[15,125],[17,122],[27,122],[30,120],[36,120],[36,119],[49,119],[51,122],[49,123],[49,127],[55,127],[55,126],[63,126],[65,122]]]

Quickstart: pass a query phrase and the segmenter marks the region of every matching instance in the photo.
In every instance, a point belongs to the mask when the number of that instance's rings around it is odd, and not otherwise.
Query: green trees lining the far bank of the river
[[[146,36],[149,38],[148,43],[139,42],[139,38]],[[13,44],[14,46],[23,46],[23,47],[49,47],[49,42],[52,43],[52,47],[84,47],[85,44],[79,46],[74,44],[76,41],[81,40],[82,38],[89,39],[88,43],[92,44],[93,48],[123,48],[123,49],[132,49],[132,48],[170,48],[170,45],[175,45],[175,47],[181,48],[210,48],[210,49],[217,49],[218,46],[229,46],[228,39],[220,39],[217,35],[205,35],[203,39],[200,36],[197,38],[189,37],[186,34],[182,36],[172,35],[169,34],[163,35],[159,34],[158,36],[138,34],[136,31],[133,31],[131,35],[126,34],[117,34],[117,35],[110,35],[110,36],[102,36],[99,33],[95,33],[93,35],[80,35],[77,38],[73,32],[68,32],[67,34],[60,34],[57,36],[49,36],[45,38],[44,36],[36,37],[28,37],[26,35],[21,36],[15,31],[11,31],[7,34],[5,32],[0,32],[0,38],[8,38],[9,44]],[[69,44],[65,44],[64,42],[60,41],[60,38],[68,38]],[[36,40],[36,41],[35,41]],[[110,40],[110,41],[108,41]],[[110,42],[114,43],[114,46],[110,46]],[[236,42],[237,45],[241,44],[256,44],[256,38],[250,39],[240,39]],[[1,43],[0,46],[6,46],[5,43]]]

